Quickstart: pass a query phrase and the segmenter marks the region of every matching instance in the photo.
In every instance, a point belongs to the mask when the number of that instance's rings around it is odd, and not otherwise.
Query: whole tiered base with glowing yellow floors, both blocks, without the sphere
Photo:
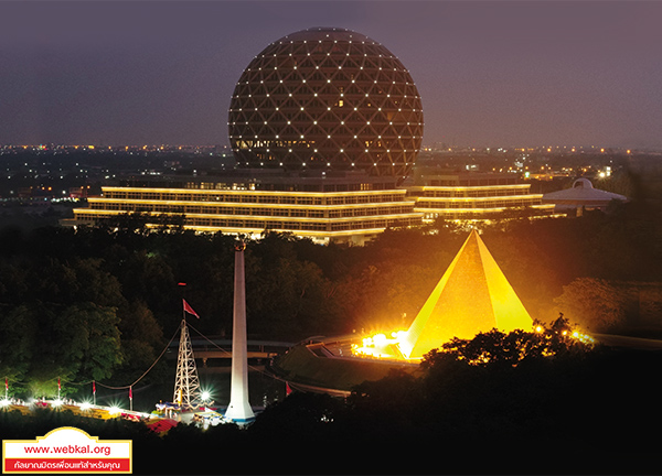
[[[306,176],[307,175],[307,176]],[[386,228],[415,227],[437,217],[478,221],[509,212],[552,216],[553,204],[530,194],[530,184],[512,174],[426,176],[425,184],[396,186],[395,177],[329,172],[287,174],[228,171],[224,175],[131,180],[104,186],[87,208],[74,209],[65,225],[113,224],[128,213],[143,213],[148,227],[163,217],[182,217],[185,229],[203,232],[292,232],[317,242],[363,245]],[[168,223],[166,220],[166,223]]]

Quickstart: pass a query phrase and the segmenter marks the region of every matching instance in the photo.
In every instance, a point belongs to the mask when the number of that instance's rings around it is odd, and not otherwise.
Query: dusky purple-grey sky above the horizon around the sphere
[[[226,144],[269,43],[339,26],[423,98],[424,145],[662,148],[662,2],[0,1],[0,144]]]

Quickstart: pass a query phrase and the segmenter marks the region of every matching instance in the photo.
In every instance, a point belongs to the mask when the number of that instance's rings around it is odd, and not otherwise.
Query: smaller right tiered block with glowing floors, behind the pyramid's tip
[[[519,183],[514,174],[461,173],[416,174],[407,196],[416,199],[415,210],[424,221],[436,218],[479,221],[517,214],[546,217],[554,206],[543,203],[542,194],[531,194],[531,184]]]

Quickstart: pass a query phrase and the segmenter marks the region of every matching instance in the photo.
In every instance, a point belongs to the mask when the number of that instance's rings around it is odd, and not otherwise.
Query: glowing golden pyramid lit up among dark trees
[[[533,321],[476,230],[471,231],[412,323],[399,349],[423,357],[453,337],[498,328],[528,331]]]

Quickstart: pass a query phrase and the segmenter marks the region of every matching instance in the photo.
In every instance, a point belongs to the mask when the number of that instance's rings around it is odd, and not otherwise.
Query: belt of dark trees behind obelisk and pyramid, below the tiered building
[[[534,318],[563,312],[588,331],[650,335],[662,328],[660,223],[656,207],[633,202],[483,226],[482,237]],[[182,298],[201,316],[195,329],[232,334],[234,237],[119,225],[0,230],[0,376],[38,396],[57,377],[128,385],[177,333]],[[248,333],[295,343],[406,328],[467,236],[439,221],[365,247],[249,239]]]

